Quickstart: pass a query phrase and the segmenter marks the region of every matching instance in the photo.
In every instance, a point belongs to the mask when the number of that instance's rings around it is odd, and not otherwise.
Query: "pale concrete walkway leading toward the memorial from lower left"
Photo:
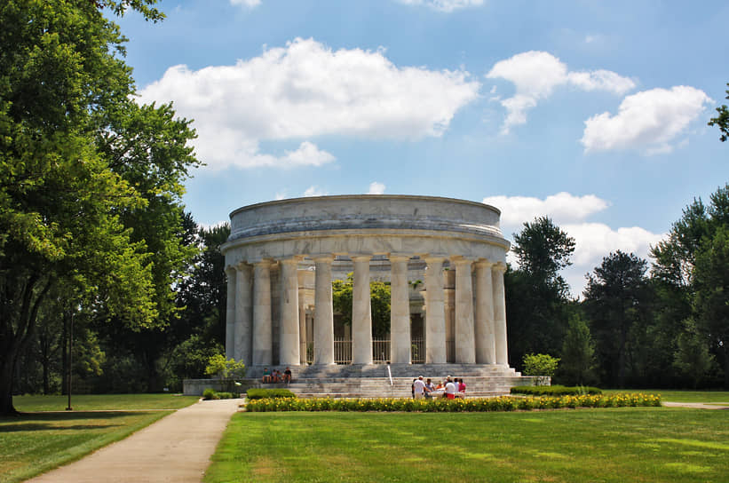
[[[202,400],[32,482],[199,483],[242,400]]]

